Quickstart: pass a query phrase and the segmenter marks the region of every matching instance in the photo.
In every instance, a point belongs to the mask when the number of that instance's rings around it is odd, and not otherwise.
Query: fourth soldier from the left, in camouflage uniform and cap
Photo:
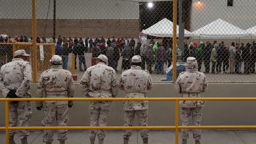
[[[124,90],[126,98],[146,98],[146,93],[153,87],[152,78],[147,70],[141,69],[141,57],[132,57],[131,69],[123,71],[119,79],[119,89]],[[139,125],[148,125],[148,101],[124,101],[124,126],[132,126],[135,114]],[[131,137],[131,130],[124,130],[124,144]],[[141,130],[143,143],[148,143],[148,130]]]

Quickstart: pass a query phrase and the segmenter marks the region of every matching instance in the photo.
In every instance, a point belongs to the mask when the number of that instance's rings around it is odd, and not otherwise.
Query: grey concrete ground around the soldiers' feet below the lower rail
[[[174,131],[150,131],[149,132],[149,143],[175,143],[175,132]],[[179,133],[179,138],[181,133]],[[256,143],[256,131],[213,131],[203,130],[201,143],[207,144],[254,144]],[[5,143],[5,134],[0,132],[0,143]],[[31,131],[28,143],[43,143],[43,132],[42,131]],[[179,139],[180,140],[180,139]],[[15,142],[20,143],[18,137],[15,137]],[[59,143],[57,141],[57,135],[54,134],[53,144]],[[69,131],[67,144],[81,144],[90,143],[88,131]],[[96,140],[95,143],[98,143]],[[122,131],[108,131],[105,138],[105,144],[123,143]],[[142,143],[139,131],[133,131],[132,137],[129,140],[130,144]],[[181,140],[179,141],[181,143]],[[190,131],[189,143],[195,143],[193,134]]]

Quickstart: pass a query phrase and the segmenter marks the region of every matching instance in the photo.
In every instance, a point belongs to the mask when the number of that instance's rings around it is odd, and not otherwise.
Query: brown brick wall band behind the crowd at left
[[[44,36],[46,19],[37,20],[37,35]],[[15,35],[32,35],[31,19],[0,19],[0,34],[7,34],[11,37]],[[53,20],[47,20],[45,37],[53,34]],[[101,20],[78,20],[78,19],[57,19],[56,36],[66,37],[139,37],[138,19],[101,19]]]

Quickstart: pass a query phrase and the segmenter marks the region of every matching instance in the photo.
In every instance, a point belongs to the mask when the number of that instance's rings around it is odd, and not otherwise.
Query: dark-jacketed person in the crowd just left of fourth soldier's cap
[[[131,45],[126,45],[124,47],[124,50],[121,53],[121,56],[123,56],[123,60],[122,60],[122,69],[126,70],[126,69],[130,69],[131,67],[131,59],[133,57],[133,51],[131,48]]]

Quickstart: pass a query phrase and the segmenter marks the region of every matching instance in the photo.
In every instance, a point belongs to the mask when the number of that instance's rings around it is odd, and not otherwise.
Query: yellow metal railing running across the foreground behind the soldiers
[[[9,101],[175,101],[175,126],[22,126],[9,127]],[[139,129],[175,129],[175,143],[179,143],[179,129],[256,129],[255,125],[236,125],[236,126],[180,126],[179,125],[179,101],[182,100],[209,100],[209,101],[256,101],[256,98],[0,98],[5,101],[5,143],[9,144],[9,130],[139,130]]]

